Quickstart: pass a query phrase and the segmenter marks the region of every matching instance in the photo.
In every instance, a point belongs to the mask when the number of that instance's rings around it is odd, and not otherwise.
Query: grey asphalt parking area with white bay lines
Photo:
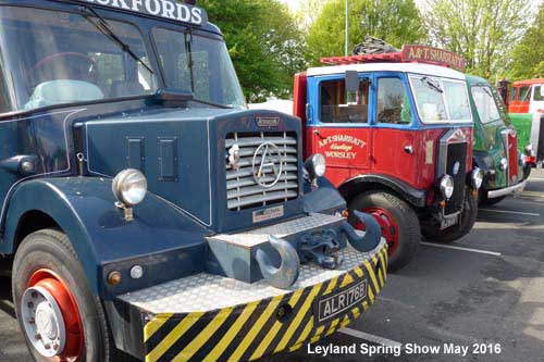
[[[542,360],[544,171],[533,171],[521,197],[481,210],[474,230],[453,247],[421,246],[408,267],[390,275],[366,315],[318,345],[356,346],[355,354],[323,357],[312,347],[265,362],[393,360],[400,345],[403,361]],[[0,278],[0,361],[29,361],[9,290],[9,280]],[[369,358],[361,344],[368,350],[385,344],[382,352],[388,353]],[[446,355],[444,344],[468,347],[468,354]],[[494,353],[473,354],[474,344]],[[430,346],[440,346],[438,354],[408,354],[408,348]]]

